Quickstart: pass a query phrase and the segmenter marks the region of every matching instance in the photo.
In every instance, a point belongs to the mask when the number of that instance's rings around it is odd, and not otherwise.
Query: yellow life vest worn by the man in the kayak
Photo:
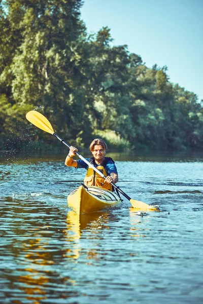
[[[105,170],[104,166],[97,166],[96,169],[98,169],[101,173],[103,173],[105,176],[109,175],[108,172]],[[107,190],[113,191],[112,185],[105,182],[105,179],[98,175],[97,172],[95,172],[92,168],[87,169],[86,176],[84,178],[84,184],[86,186],[97,186],[101,188],[105,188]]]

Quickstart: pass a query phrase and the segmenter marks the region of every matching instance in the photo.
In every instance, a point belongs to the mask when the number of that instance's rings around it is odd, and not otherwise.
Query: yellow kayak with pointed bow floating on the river
[[[79,214],[115,207],[120,203],[121,199],[115,192],[96,186],[82,185],[67,197],[69,207]]]

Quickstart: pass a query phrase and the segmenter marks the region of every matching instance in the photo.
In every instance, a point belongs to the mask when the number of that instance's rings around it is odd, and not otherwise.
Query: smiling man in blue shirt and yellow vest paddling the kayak
[[[105,157],[107,150],[106,142],[103,139],[96,138],[91,142],[89,149],[93,157],[87,158],[87,161],[107,176],[106,179],[98,175],[98,173],[90,168],[83,160],[73,160],[75,152],[78,151],[74,146],[70,147],[69,154],[65,159],[65,165],[87,169],[87,174],[84,178],[84,184],[86,186],[98,186],[113,191],[111,182],[116,183],[118,181],[118,172],[114,161],[109,157]]]

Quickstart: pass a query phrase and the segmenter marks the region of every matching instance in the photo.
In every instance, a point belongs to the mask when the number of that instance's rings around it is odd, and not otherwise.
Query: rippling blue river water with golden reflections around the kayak
[[[85,171],[63,161],[2,160],[0,302],[202,303],[202,160],[117,161],[123,191],[161,212],[123,198],[82,216],[66,197]]]

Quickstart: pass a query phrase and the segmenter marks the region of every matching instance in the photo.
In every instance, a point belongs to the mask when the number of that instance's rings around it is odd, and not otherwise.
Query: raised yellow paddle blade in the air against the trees
[[[48,132],[50,134],[54,134],[54,130],[44,115],[39,113],[38,111],[29,111],[26,114],[26,119],[36,127],[42,129],[45,132]]]

